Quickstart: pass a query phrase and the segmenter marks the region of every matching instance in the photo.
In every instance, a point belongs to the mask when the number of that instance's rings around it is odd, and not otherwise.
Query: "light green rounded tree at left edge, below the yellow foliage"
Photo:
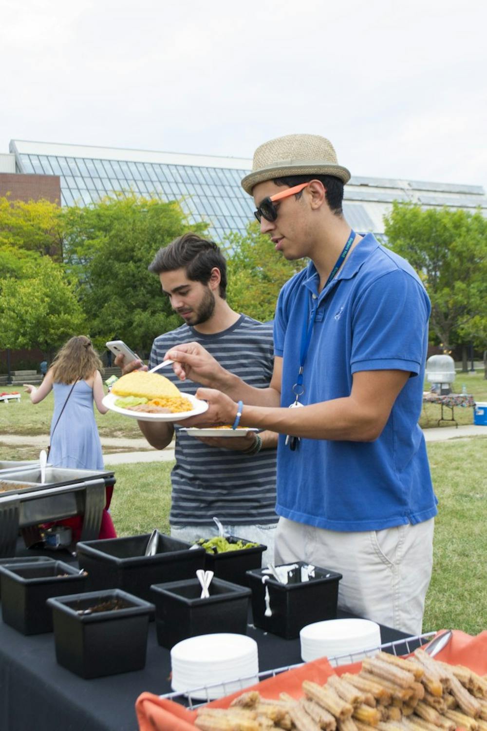
[[[61,265],[37,256],[23,276],[0,279],[0,348],[52,352],[83,332],[85,319]]]

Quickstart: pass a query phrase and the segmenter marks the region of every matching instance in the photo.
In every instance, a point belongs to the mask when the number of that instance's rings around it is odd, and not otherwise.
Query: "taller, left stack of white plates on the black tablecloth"
[[[221,698],[258,681],[257,643],[246,635],[221,632],[182,640],[171,650],[172,689],[195,698]],[[231,683],[237,678],[249,678]],[[224,685],[222,683],[225,683]]]

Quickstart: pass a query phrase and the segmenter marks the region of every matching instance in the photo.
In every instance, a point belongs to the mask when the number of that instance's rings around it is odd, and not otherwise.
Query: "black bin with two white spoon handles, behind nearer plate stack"
[[[187,637],[214,632],[247,634],[250,589],[213,579],[208,591],[210,596],[202,599],[197,579],[151,587],[159,645],[170,649]]]

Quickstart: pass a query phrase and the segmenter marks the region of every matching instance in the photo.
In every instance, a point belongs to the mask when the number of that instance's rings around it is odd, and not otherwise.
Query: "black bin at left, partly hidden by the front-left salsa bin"
[[[0,567],[0,580],[5,624],[23,635],[40,635],[53,631],[47,599],[79,594],[85,588],[86,576],[62,561],[42,561]]]

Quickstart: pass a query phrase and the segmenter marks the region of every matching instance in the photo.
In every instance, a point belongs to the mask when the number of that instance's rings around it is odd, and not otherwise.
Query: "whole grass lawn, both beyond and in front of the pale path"
[[[478,401],[487,401],[483,371],[459,374],[461,385]],[[11,393],[19,387],[1,387]],[[429,385],[425,384],[425,390]],[[23,392],[22,392],[23,393]],[[27,394],[18,403],[0,403],[0,458],[34,459],[28,436],[49,433],[53,395],[34,406]],[[472,409],[455,409],[459,423],[471,424]],[[437,426],[440,407],[423,408],[423,428]],[[109,412],[96,412],[101,436],[139,437],[137,423]],[[23,434],[23,446],[1,445],[1,435]],[[107,450],[105,450],[107,451]],[[434,540],[434,573],[426,597],[424,630],[463,629],[476,634],[486,629],[487,618],[487,438],[453,439],[428,444],[435,491],[440,500]],[[170,471],[172,463],[135,463],[114,467],[117,485],[112,515],[120,535],[169,529]]]

